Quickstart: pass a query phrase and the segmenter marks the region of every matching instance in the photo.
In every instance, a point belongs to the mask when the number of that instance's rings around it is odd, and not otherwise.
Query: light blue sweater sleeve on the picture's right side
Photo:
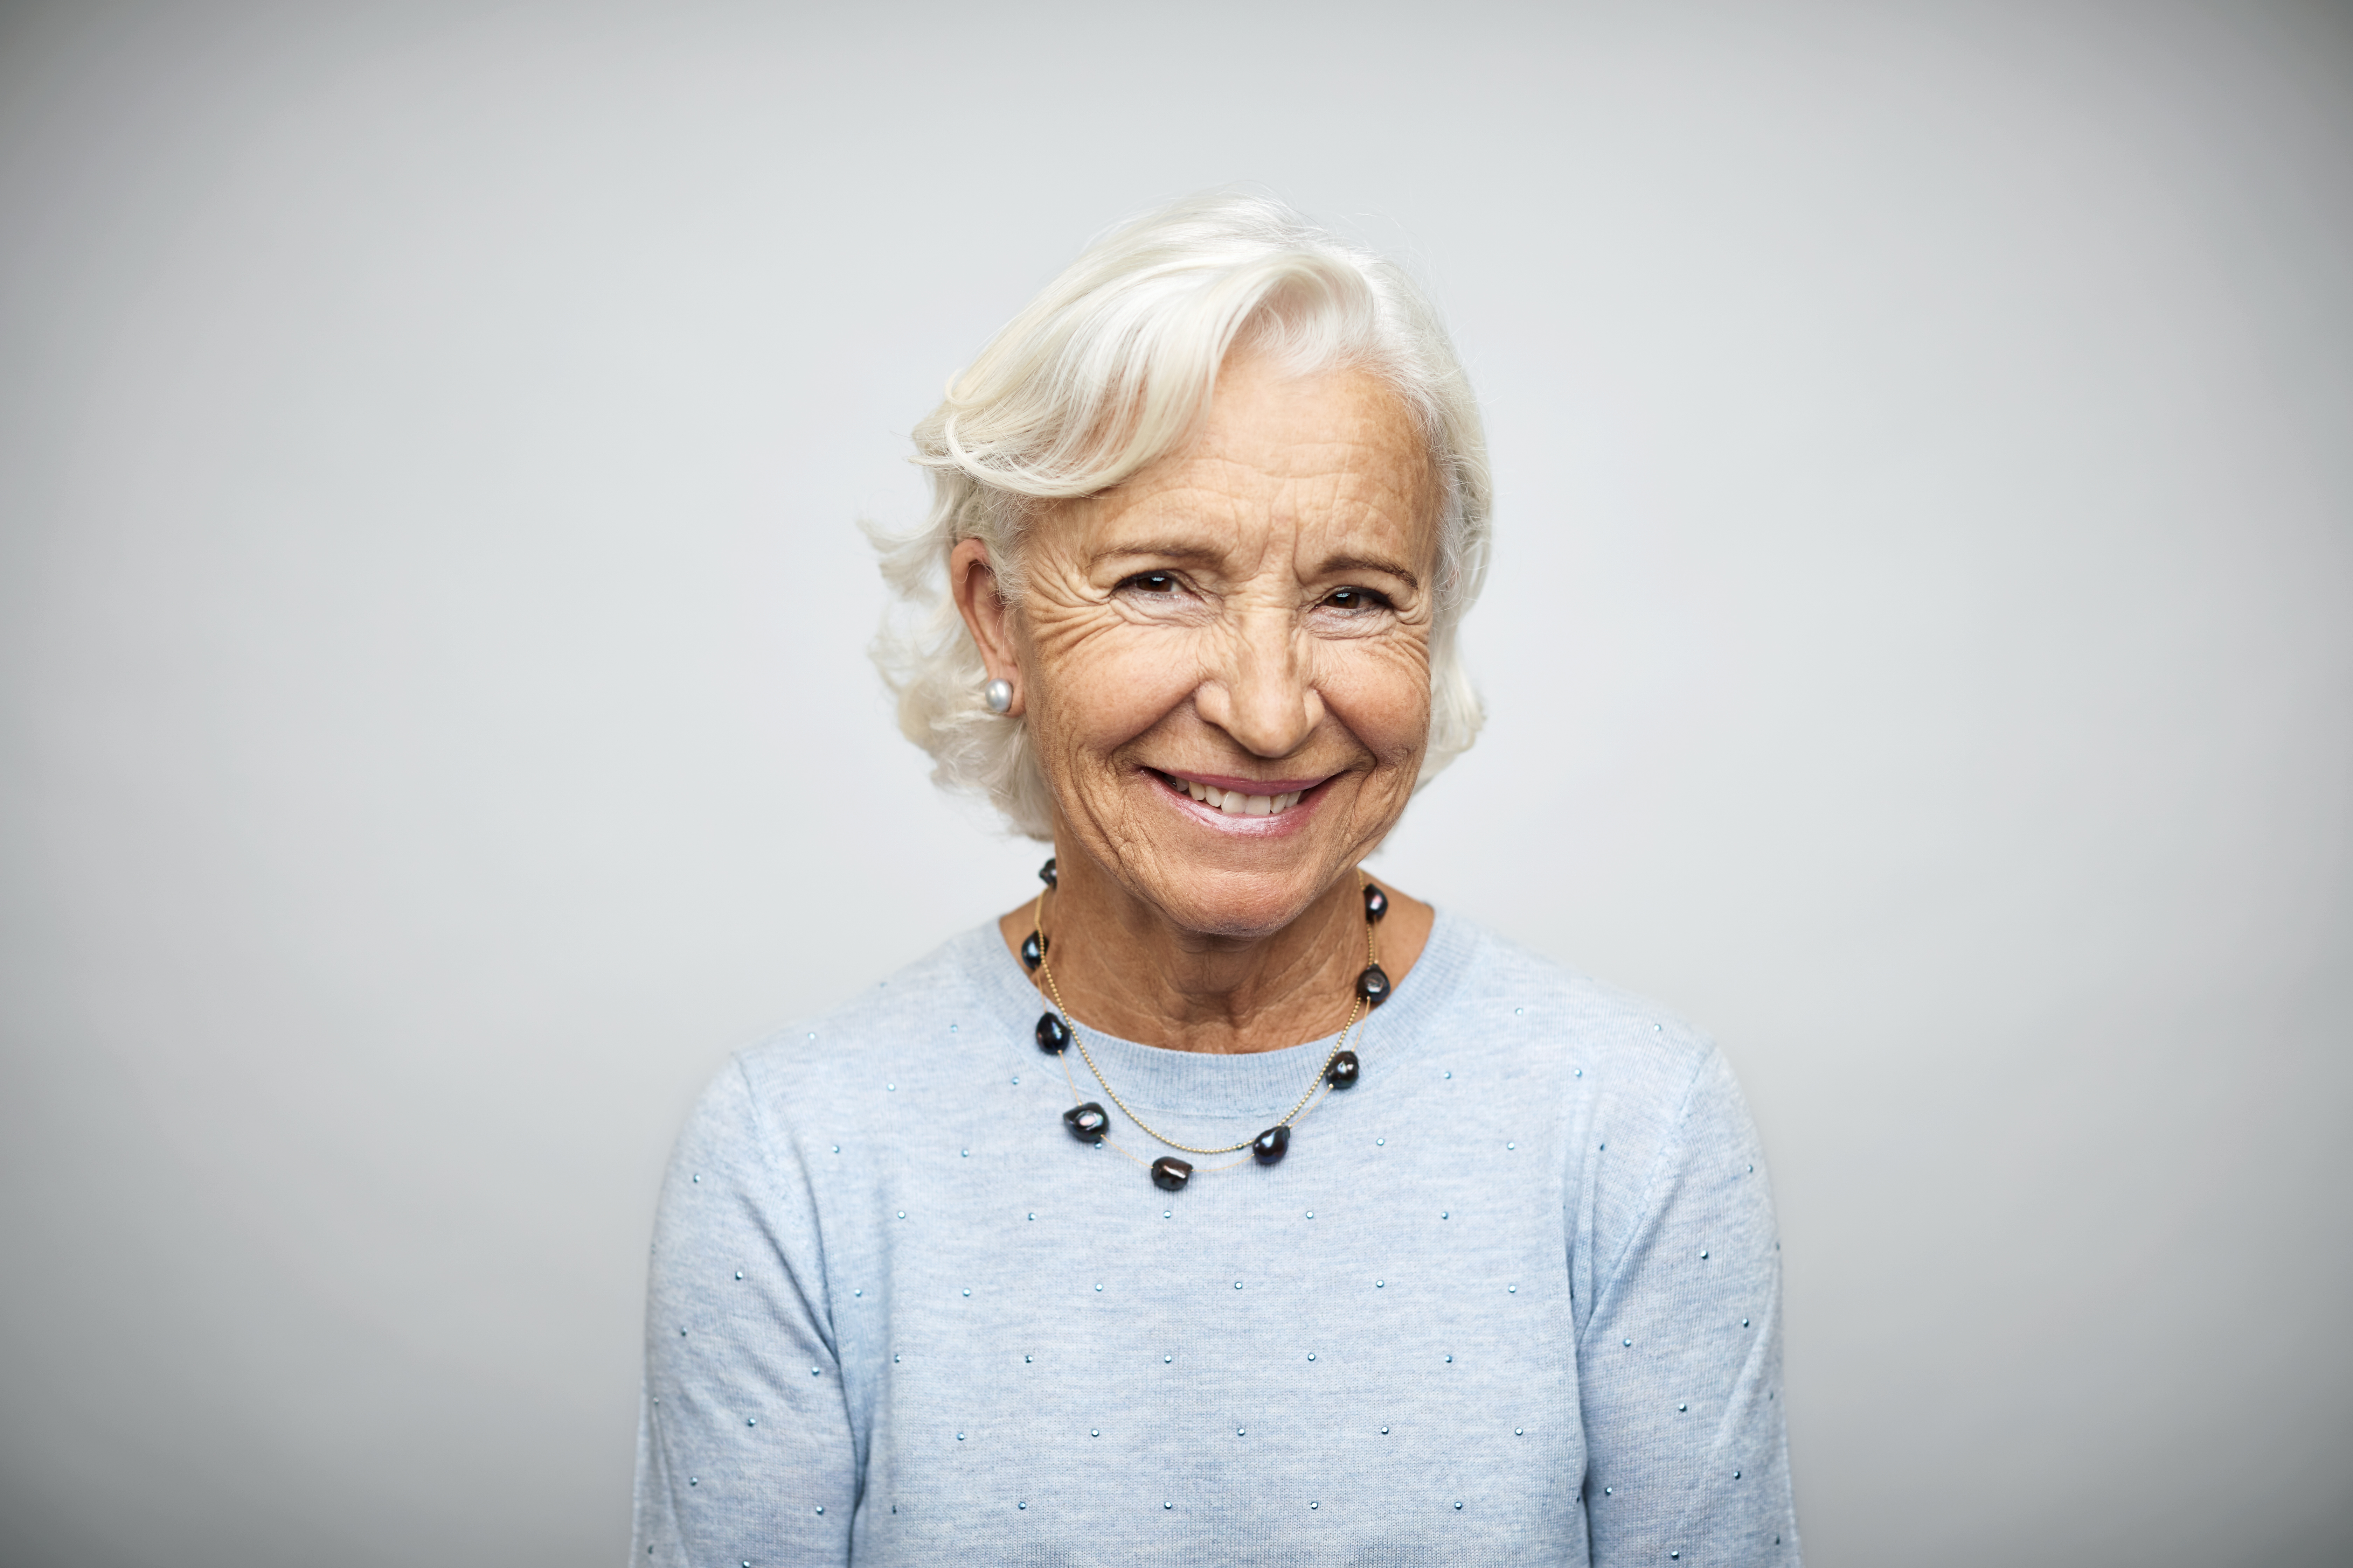
[[[1579,1385],[1595,1568],[1798,1561],[1781,1246],[1718,1051],[1668,1119],[1602,1103],[1581,1150]]]

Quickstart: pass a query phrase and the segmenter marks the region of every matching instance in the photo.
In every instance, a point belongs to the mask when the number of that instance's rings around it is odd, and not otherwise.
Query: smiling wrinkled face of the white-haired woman
[[[1238,938],[1372,851],[1428,743],[1438,501],[1379,378],[1238,357],[1198,444],[1040,515],[1005,630],[1056,851]]]

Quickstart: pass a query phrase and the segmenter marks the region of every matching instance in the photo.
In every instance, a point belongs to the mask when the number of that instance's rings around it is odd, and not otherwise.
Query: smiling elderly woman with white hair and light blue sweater
[[[904,726],[1054,858],[696,1107],[633,1561],[1798,1561],[1725,1058],[1362,870],[1480,722],[1414,287],[1181,202],[915,447]]]

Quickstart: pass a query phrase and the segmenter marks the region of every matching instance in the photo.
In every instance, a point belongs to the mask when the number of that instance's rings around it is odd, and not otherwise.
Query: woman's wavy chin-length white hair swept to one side
[[[1134,219],[1071,263],[915,425],[932,515],[871,531],[899,604],[875,665],[932,780],[988,795],[1016,832],[1049,839],[1054,802],[1021,719],[981,701],[986,670],[948,592],[948,555],[979,538],[998,590],[1024,595],[1024,524],[1191,442],[1233,348],[1292,374],[1360,367],[1412,409],[1440,482],[1431,616],[1431,736],[1414,788],[1468,750],[1485,712],[1457,625],[1487,576],[1489,480],[1478,402],[1438,313],[1388,261],[1282,202],[1207,193]]]

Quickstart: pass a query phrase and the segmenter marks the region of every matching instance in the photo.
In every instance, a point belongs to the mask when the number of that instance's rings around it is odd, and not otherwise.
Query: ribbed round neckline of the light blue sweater
[[[960,940],[965,945],[965,969],[979,980],[981,994],[991,1011],[998,1013],[1007,1039],[1016,1044],[1024,1060],[1052,1072],[1054,1063],[1040,1060],[1033,1034],[1038,1013],[1049,1011],[1049,1001],[1031,983],[1031,976],[1021,969],[1021,959],[1005,950],[998,922],[991,919],[967,931]],[[1351,1044],[1365,1063],[1362,1074],[1367,1081],[1386,1077],[1393,1067],[1424,1051],[1424,1041],[1431,1037],[1431,1030],[1424,1025],[1461,987],[1468,950],[1471,943],[1464,924],[1449,912],[1438,910],[1421,957],[1398,980],[1388,1001],[1365,1023],[1362,1037]],[[1085,1018],[1075,1018],[1073,1023],[1085,1034],[1096,1067],[1120,1091],[1122,1100],[1139,1110],[1176,1112],[1179,1117],[1202,1121],[1282,1114],[1306,1088],[1308,1077],[1337,1039],[1337,1034],[1325,1034],[1322,1039],[1308,1039],[1278,1051],[1209,1056],[1104,1034],[1089,1027]],[[1087,1060],[1078,1048],[1073,1046],[1064,1056],[1078,1084],[1080,1100],[1106,1100],[1101,1084],[1087,1072]],[[1054,1072],[1054,1077],[1059,1079],[1061,1074]],[[1169,1131],[1176,1133],[1176,1128]]]

